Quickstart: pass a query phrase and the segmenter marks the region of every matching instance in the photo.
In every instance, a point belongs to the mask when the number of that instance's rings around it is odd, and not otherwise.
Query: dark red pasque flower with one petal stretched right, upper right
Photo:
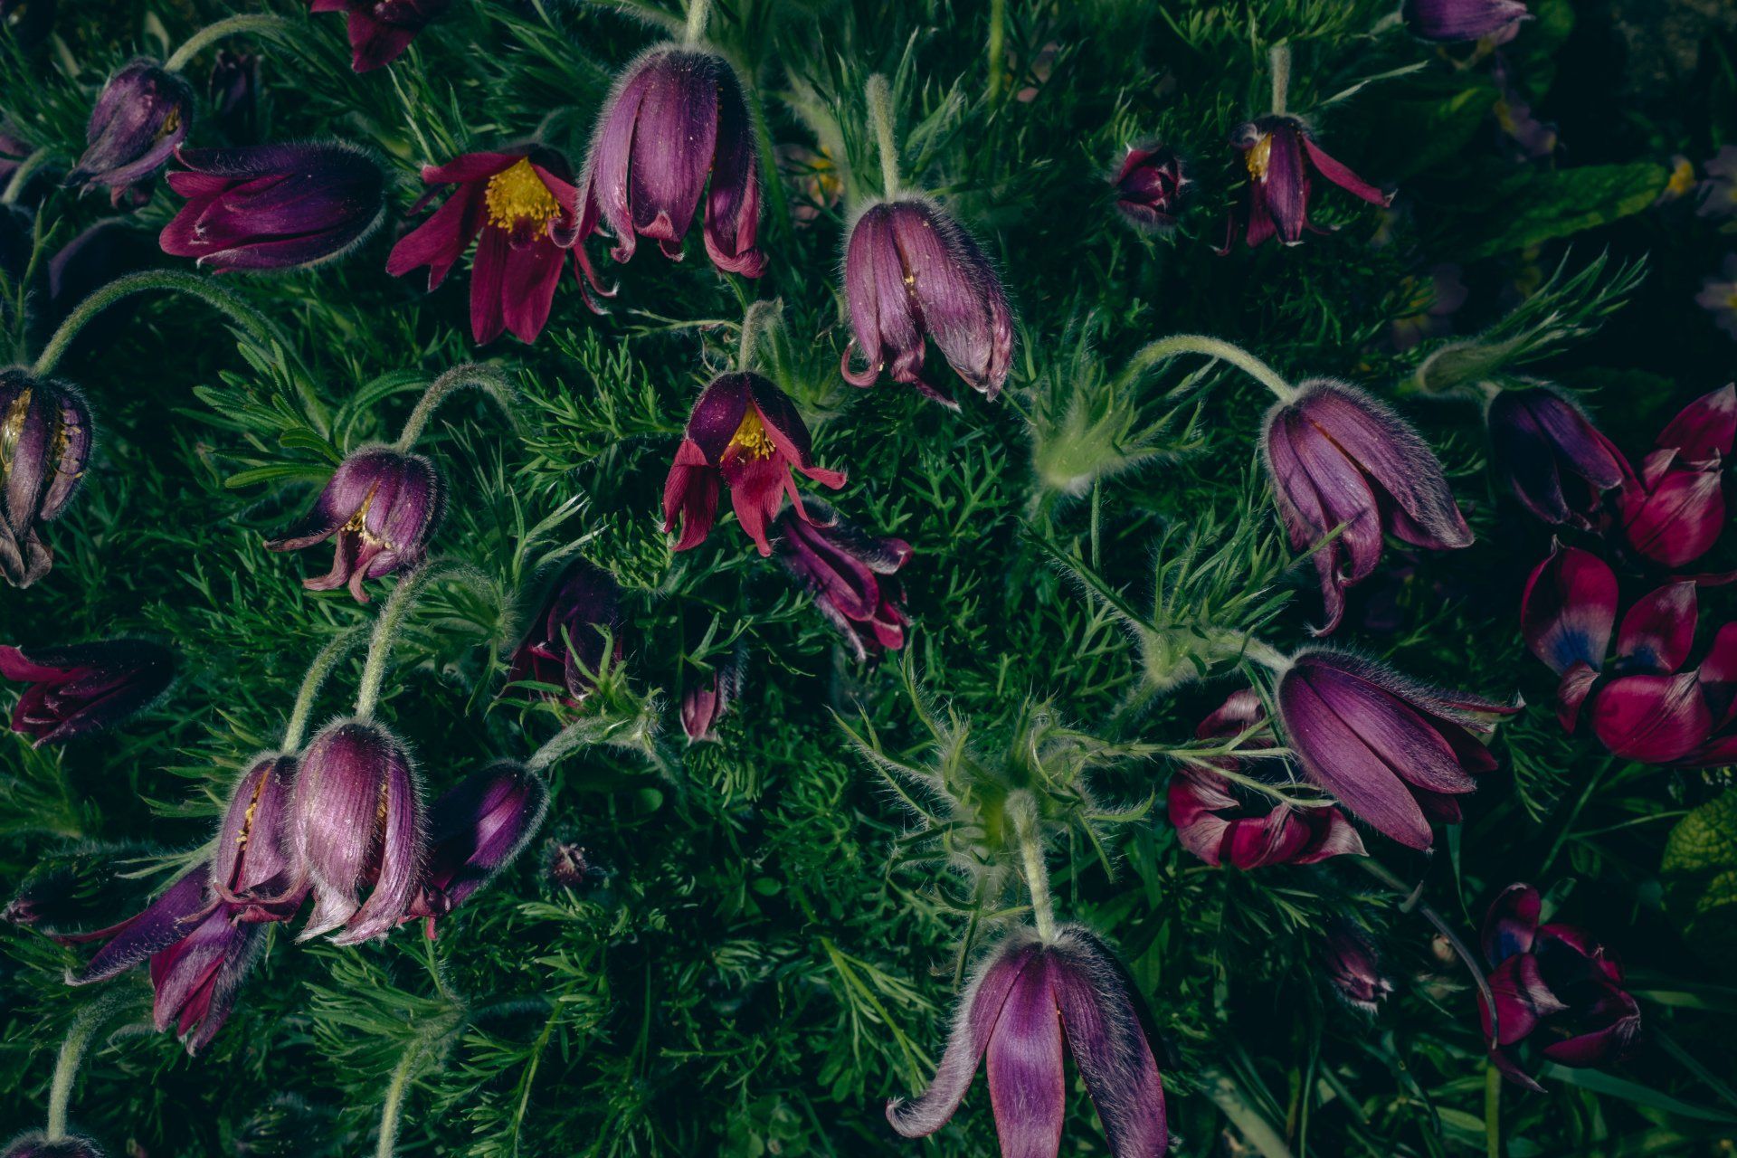
[[[1273,236],[1296,245],[1304,229],[1324,233],[1308,219],[1311,170],[1370,205],[1393,203],[1391,193],[1383,193],[1327,156],[1298,116],[1256,116],[1230,134],[1230,144],[1242,153],[1242,165],[1249,170],[1247,203],[1238,212],[1247,222],[1244,241],[1251,250]],[[1235,233],[1237,215],[1232,215],[1221,255],[1230,252]]]

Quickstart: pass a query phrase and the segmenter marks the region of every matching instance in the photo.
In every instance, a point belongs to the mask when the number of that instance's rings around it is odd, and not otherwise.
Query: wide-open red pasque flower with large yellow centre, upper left
[[[578,189],[566,160],[542,146],[466,153],[446,165],[424,165],[422,182],[457,188],[393,247],[386,273],[401,278],[427,266],[434,290],[476,241],[471,337],[486,345],[511,330],[521,342],[535,342],[578,227]]]

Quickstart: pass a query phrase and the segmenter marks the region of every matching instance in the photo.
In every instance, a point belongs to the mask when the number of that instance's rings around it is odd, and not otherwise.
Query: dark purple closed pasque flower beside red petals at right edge
[[[1485,411],[1492,465],[1520,505],[1544,523],[1593,528],[1628,460],[1584,410],[1549,385],[1508,389]]]

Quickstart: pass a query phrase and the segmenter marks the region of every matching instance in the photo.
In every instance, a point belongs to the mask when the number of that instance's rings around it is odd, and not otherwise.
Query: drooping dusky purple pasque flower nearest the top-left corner
[[[109,76],[90,109],[85,153],[68,186],[109,191],[120,208],[174,155],[193,123],[193,87],[156,61],[137,59]],[[134,198],[135,200],[135,198]]]

